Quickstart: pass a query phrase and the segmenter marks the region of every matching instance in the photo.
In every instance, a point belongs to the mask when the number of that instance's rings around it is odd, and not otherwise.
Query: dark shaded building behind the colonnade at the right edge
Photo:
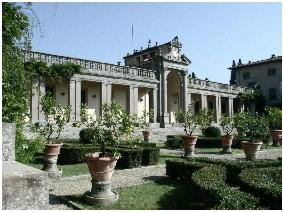
[[[282,105],[282,56],[272,55],[268,59],[243,64],[233,61],[231,85],[254,87],[259,85],[266,105]]]

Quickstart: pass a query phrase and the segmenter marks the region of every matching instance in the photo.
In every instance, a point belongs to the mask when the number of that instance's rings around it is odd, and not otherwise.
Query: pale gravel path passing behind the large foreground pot
[[[183,154],[181,150],[161,150],[162,153]],[[262,150],[258,154],[258,159],[278,159],[282,156],[281,149]],[[196,154],[196,157],[208,157],[216,159],[237,160],[244,159],[244,154],[220,155],[220,154]],[[142,168],[116,170],[112,177],[113,188],[126,187],[148,183],[156,179],[165,177],[165,165],[147,166]],[[59,180],[50,181],[50,209],[72,210],[72,208],[62,204],[58,196],[83,194],[91,189],[91,177],[89,174],[74,177],[64,177]]]

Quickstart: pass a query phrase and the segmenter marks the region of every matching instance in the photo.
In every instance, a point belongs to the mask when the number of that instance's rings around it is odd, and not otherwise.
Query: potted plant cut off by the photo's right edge
[[[282,145],[282,111],[276,107],[266,107],[265,112],[273,145],[278,146],[278,141]]]

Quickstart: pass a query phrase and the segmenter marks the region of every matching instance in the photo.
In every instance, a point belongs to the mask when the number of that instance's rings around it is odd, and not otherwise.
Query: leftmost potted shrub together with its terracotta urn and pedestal
[[[70,106],[55,106],[55,100],[51,95],[45,95],[41,99],[42,111],[46,115],[45,122],[37,122],[34,125],[35,131],[45,137],[45,148],[43,152],[44,166],[42,170],[48,172],[49,177],[59,177],[62,170],[57,167],[57,159],[63,143],[59,141],[61,132],[69,120]]]

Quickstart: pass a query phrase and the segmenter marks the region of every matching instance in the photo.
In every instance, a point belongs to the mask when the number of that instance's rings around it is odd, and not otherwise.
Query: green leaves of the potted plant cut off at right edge
[[[282,129],[282,111],[279,108],[276,107],[266,107],[266,119],[269,124],[270,129]]]

